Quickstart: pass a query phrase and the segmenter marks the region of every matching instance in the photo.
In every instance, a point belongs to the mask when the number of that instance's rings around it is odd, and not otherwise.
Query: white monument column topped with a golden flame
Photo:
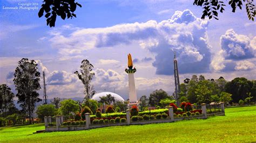
[[[128,74],[129,78],[129,103],[128,106],[132,107],[133,105],[138,106],[137,101],[137,94],[136,94],[136,88],[135,88],[135,81],[134,81],[134,73],[136,72],[136,68],[133,68],[132,64],[132,56],[131,54],[128,54],[128,68],[125,69],[125,72]]]

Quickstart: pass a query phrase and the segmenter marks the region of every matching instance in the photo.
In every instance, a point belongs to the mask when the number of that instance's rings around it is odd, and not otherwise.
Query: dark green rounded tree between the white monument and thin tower
[[[160,106],[161,99],[165,99],[165,98],[171,99],[171,96],[168,96],[167,92],[164,91],[163,89],[155,90],[150,94],[149,104],[151,106]]]

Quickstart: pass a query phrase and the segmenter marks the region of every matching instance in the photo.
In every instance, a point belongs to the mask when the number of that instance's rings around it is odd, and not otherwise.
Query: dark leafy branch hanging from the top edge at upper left
[[[60,16],[63,20],[65,20],[65,18],[72,19],[72,17],[76,17],[74,12],[77,6],[82,8],[82,5],[75,2],[75,0],[44,0],[42,8],[38,12],[38,17],[42,17],[45,12],[44,16],[47,25],[54,27],[57,16]]]

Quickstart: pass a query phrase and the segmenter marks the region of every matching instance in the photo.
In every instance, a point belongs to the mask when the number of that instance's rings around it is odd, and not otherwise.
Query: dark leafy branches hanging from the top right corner
[[[256,13],[256,7],[253,4],[253,0],[230,0],[228,4],[232,8],[232,12],[235,12],[237,7],[239,9],[242,9],[242,4],[245,3],[246,6],[246,12],[249,20],[254,21],[255,13]],[[193,5],[201,6],[203,7],[203,15],[201,16],[201,19],[205,19],[205,17],[208,17],[209,19],[218,18],[218,12],[223,13],[224,7],[226,6],[223,1],[218,0],[194,0]]]

